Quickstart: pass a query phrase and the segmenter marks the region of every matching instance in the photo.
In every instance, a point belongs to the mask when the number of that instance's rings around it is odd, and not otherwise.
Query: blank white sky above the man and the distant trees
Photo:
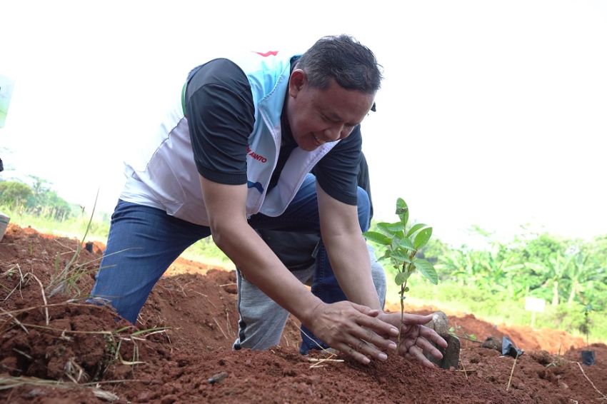
[[[363,123],[376,218],[398,196],[451,243],[478,224],[607,233],[605,1],[2,1],[14,94],[0,157],[113,210],[122,163],[191,67],[222,49],[351,34],[383,65]],[[8,151],[6,150],[8,148]]]

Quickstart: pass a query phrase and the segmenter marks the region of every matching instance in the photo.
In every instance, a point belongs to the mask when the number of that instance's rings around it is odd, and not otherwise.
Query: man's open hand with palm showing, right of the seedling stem
[[[381,313],[378,315],[378,319],[396,327],[401,325],[401,313]],[[447,348],[447,342],[435,330],[424,326],[430,320],[432,320],[431,314],[418,315],[405,313],[401,326],[401,346],[398,353],[408,359],[416,358],[422,365],[433,368],[433,363],[423,354],[429,353],[434,358],[441,359],[443,358],[441,351],[436,349],[431,343],[435,343],[442,348]],[[391,339],[398,340],[398,335],[391,337]]]

